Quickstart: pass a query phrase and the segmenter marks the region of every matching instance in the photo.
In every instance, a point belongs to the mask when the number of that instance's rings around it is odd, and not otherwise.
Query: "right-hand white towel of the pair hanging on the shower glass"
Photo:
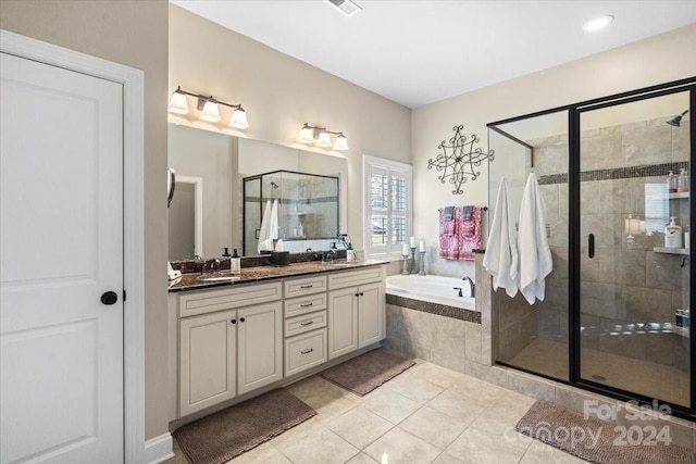
[[[544,279],[554,268],[554,262],[546,238],[546,206],[534,173],[526,179],[522,196],[518,250],[520,291],[530,304],[534,304],[536,298],[544,301]]]

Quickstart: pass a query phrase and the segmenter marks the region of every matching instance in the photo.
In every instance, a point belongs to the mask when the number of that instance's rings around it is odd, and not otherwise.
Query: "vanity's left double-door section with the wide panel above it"
[[[283,378],[281,298],[281,283],[179,297],[179,417]]]

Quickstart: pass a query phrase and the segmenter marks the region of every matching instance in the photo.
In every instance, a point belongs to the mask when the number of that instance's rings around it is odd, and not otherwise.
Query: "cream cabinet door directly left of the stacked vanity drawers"
[[[279,301],[237,311],[239,394],[283,378],[282,312]]]

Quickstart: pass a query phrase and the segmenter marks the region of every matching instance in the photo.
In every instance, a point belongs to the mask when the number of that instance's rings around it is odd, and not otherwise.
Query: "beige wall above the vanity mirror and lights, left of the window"
[[[362,154],[410,162],[408,108],[172,5],[170,90],[176,86],[241,103],[250,127],[228,131],[240,137],[306,150],[296,142],[303,123],[343,130],[350,146],[343,152],[348,161],[343,208],[347,231],[362,247]]]

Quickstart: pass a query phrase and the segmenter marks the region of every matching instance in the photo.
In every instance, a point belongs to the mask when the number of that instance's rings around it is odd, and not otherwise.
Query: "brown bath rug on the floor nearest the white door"
[[[316,412],[284,389],[179,427],[174,437],[192,464],[221,464],[281,435]]]

